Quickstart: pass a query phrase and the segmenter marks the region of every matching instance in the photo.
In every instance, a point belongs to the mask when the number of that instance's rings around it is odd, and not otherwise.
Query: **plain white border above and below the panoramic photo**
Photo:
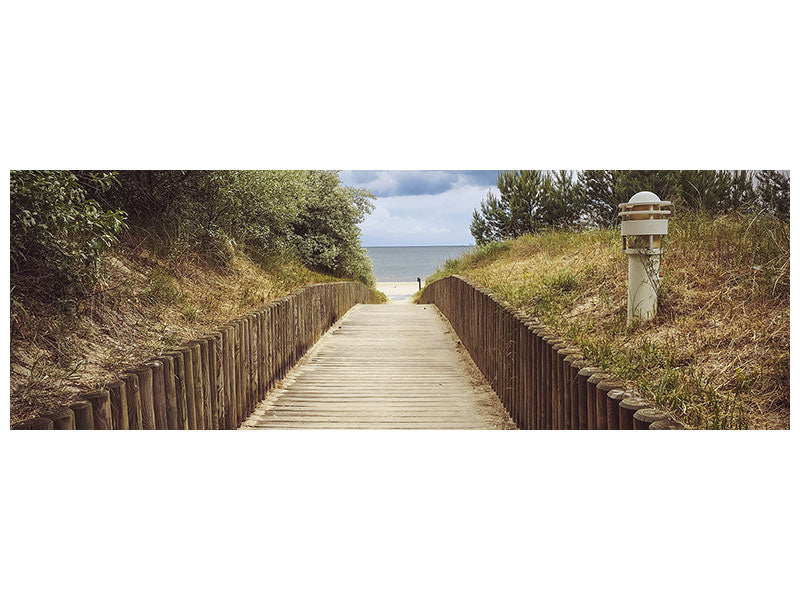
[[[15,3],[3,175],[791,169],[796,16],[774,1]],[[9,598],[797,590],[795,432],[0,435]]]

